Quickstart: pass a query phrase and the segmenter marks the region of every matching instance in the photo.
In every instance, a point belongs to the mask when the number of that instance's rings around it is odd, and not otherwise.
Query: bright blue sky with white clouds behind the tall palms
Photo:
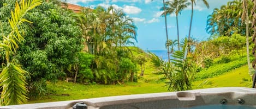
[[[168,0],[166,0],[168,1]],[[197,1],[194,10],[192,37],[198,41],[207,40],[210,36],[206,33],[207,16],[214,8],[227,4],[231,0],[208,0],[210,8],[207,9],[203,2]],[[67,0],[68,3],[78,4],[82,7],[94,8],[98,5],[108,8],[110,5],[117,9],[122,9],[126,14],[133,18],[138,28],[136,46],[146,50],[165,50],[165,24],[164,17],[160,17],[160,7],[163,6],[162,0]],[[184,9],[178,16],[180,37],[183,39],[188,35],[191,10],[190,7]],[[170,15],[168,19],[169,39],[177,39],[176,18]]]

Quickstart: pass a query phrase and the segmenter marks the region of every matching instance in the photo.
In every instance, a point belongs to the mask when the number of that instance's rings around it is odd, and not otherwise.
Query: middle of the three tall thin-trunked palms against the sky
[[[184,8],[187,8],[187,6],[190,5],[190,3],[188,2],[188,0],[174,0],[174,1],[166,2],[165,5],[168,5],[169,7],[165,8],[165,11],[163,12],[162,15],[165,15],[165,14],[170,15],[172,13],[175,13],[176,15],[178,50],[180,50],[180,36],[178,31],[178,14],[181,14],[181,11]],[[163,8],[161,10],[164,10]]]

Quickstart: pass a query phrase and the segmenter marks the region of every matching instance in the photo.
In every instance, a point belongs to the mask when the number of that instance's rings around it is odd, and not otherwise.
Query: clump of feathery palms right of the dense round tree
[[[112,6],[108,9],[84,9],[72,16],[82,29],[84,50],[95,56],[91,66],[94,76],[92,81],[115,84],[122,80],[122,58],[133,61],[130,55],[132,52],[127,47],[136,41],[136,26],[132,18]]]

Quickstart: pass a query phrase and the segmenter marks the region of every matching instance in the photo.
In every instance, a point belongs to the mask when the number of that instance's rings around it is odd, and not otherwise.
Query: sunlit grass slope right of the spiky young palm
[[[201,88],[211,88],[211,87],[251,87],[251,82],[241,83],[242,79],[251,79],[251,76],[248,74],[248,66],[242,66],[240,68],[233,69],[223,75],[209,78],[209,81],[212,82],[212,85],[205,85]],[[204,82],[207,79],[195,81],[193,83],[193,89],[196,89],[198,85]]]

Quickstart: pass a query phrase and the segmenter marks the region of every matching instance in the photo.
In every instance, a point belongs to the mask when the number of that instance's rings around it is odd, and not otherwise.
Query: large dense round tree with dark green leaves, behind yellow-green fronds
[[[1,2],[13,3],[11,1]],[[4,25],[8,23],[6,19],[9,18],[9,12],[5,10],[12,9],[9,5],[14,4],[7,4],[1,8],[1,12],[7,12],[1,14]],[[34,87],[29,89],[45,88],[37,88],[36,86],[40,85],[35,85],[44,82],[43,80],[56,81],[63,78],[69,65],[75,62],[76,54],[82,49],[82,34],[74,18],[69,17],[70,14],[58,4],[43,2],[23,16],[33,23],[23,23],[20,28],[25,40],[19,44],[15,59],[29,72],[31,78],[26,81],[28,87]],[[8,28],[10,27],[7,26]],[[4,34],[10,31],[6,28],[0,29]]]

